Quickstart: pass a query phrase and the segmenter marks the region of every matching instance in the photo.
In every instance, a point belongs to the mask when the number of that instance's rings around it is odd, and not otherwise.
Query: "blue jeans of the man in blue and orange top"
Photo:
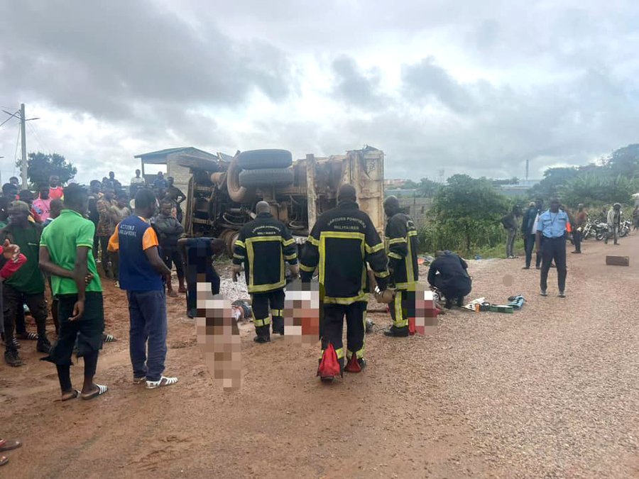
[[[127,291],[126,295],[131,318],[129,352],[133,376],[159,381],[166,358],[166,294],[162,290]]]

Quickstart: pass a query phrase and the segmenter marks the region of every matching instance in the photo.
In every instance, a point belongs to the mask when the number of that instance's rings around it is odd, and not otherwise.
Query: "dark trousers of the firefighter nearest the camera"
[[[344,369],[344,316],[346,316],[346,359],[353,354],[358,359],[364,358],[366,352],[366,301],[351,304],[324,304],[324,318],[320,324],[322,331],[322,354],[332,343],[339,359],[339,365]]]

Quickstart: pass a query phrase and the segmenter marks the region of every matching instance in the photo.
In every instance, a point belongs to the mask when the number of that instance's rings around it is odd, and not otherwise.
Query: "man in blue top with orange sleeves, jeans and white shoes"
[[[155,202],[150,190],[138,191],[135,214],[116,226],[109,241],[109,250],[120,256],[120,287],[129,299],[133,383],[146,382],[147,389],[178,382],[163,375],[168,327],[164,288],[171,270],[160,258],[158,236],[148,223],[155,214]]]

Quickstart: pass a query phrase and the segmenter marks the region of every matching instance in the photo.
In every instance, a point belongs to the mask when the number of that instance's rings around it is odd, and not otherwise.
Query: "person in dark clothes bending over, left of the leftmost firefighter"
[[[213,257],[224,251],[219,238],[181,238],[178,248],[186,266],[187,316],[197,316],[197,283],[210,282],[211,292],[219,294],[219,275],[213,268]]]

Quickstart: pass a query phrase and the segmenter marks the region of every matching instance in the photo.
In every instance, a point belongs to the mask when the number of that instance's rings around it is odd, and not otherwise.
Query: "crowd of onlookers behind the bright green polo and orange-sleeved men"
[[[32,191],[35,190],[34,191]],[[120,221],[132,214],[134,198],[141,189],[151,189],[158,200],[158,214],[151,219],[160,242],[160,255],[168,268],[178,272],[179,292],[186,292],[184,283],[183,258],[178,239],[184,233],[182,227],[182,202],[185,194],[175,186],[172,177],[162,172],[147,181],[140,170],[125,187],[109,172],[102,180],[89,183],[89,207],[87,218],[95,225],[92,253],[97,263],[102,265],[104,276],[118,284],[119,255],[109,253],[109,238],[114,234]],[[58,333],[58,305],[55,297],[50,305],[45,300],[45,285],[50,287],[50,278],[45,277],[38,266],[40,236],[52,221],[60,216],[64,193],[60,178],[51,176],[47,185],[35,185],[35,188],[23,188],[17,177],[11,177],[2,186],[0,196],[0,244],[5,240],[19,246],[28,258],[27,262],[11,277],[0,282],[0,311],[4,320],[0,321],[0,333],[5,343],[5,361],[9,365],[23,364],[18,350],[19,341],[36,341],[40,353],[48,353],[51,347],[45,329],[48,309],[53,316],[55,331]],[[177,296],[170,282],[167,292]],[[25,316],[35,321],[37,332],[29,332]],[[105,341],[113,340],[105,334]]]

